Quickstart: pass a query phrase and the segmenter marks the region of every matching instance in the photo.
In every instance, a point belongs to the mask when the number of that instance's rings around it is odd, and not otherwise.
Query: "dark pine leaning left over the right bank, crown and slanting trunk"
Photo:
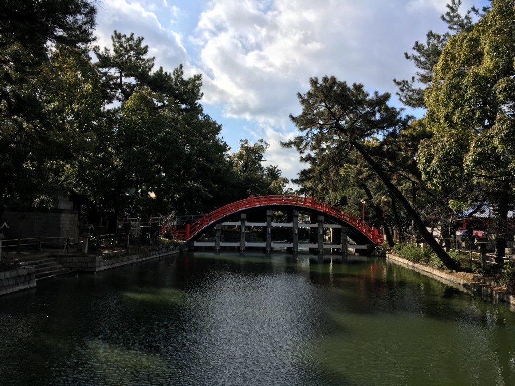
[[[374,93],[369,96],[361,84],[347,86],[335,77],[322,80],[312,78],[311,90],[299,94],[302,113],[290,116],[302,135],[285,146],[294,146],[301,154],[319,152],[324,155],[346,154],[355,150],[379,178],[388,191],[404,206],[413,219],[418,231],[430,245],[445,267],[456,269],[455,262],[427,231],[425,223],[405,195],[388,176],[388,165],[382,157],[380,138],[398,136],[408,125],[410,117],[403,117],[400,111],[389,107],[389,94]],[[334,162],[339,162],[334,157]]]

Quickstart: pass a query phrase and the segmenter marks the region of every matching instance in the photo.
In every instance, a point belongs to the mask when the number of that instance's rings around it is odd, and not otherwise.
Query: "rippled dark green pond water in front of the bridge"
[[[515,385],[515,312],[380,258],[187,254],[0,297],[0,385]]]

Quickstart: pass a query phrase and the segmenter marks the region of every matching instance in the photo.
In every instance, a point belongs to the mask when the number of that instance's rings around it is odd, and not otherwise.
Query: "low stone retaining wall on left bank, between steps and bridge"
[[[185,247],[160,248],[152,250],[150,248],[139,248],[137,252],[127,254],[127,252],[115,252],[110,254],[103,254],[97,256],[66,256],[66,255],[53,255],[53,257],[61,262],[66,267],[72,268],[79,272],[101,272],[106,269],[117,268],[136,264],[138,262],[155,259],[162,256],[173,255],[179,253]]]

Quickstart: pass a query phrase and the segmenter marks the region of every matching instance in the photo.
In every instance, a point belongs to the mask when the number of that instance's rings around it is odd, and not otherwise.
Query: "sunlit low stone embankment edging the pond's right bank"
[[[436,268],[402,259],[394,253],[387,254],[387,258],[394,264],[417,271],[459,290],[481,295],[484,299],[491,301],[507,302],[515,307],[515,295],[511,295],[510,292],[497,288],[499,287],[498,283],[488,280],[481,275],[456,271],[449,273],[443,272]]]

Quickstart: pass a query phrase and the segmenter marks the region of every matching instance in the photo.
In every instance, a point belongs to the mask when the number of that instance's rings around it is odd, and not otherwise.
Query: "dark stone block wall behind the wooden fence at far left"
[[[25,237],[77,237],[79,212],[72,209],[48,209],[32,211],[5,210],[0,224],[6,222],[4,230],[8,239]]]

